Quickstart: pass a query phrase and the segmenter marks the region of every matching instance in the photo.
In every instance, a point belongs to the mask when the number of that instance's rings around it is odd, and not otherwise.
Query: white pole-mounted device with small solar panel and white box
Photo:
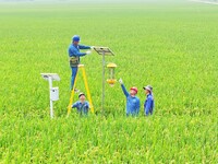
[[[59,99],[59,87],[52,87],[52,81],[60,81],[57,73],[40,73],[41,77],[49,82],[50,94],[50,117],[53,118],[53,101]]]

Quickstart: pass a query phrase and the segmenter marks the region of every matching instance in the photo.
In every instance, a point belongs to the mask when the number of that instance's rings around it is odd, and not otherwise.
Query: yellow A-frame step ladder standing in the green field
[[[74,91],[75,84],[76,84],[76,81],[77,81],[80,70],[82,70],[82,73],[83,73],[83,80],[84,80],[84,83],[85,83],[85,89],[86,89],[86,93],[87,93],[89,108],[90,108],[90,112],[94,113],[93,102],[92,102],[92,98],[90,98],[90,92],[89,92],[89,89],[88,89],[87,78],[86,78],[86,73],[85,73],[85,67],[84,67],[84,65],[78,65],[77,67],[78,67],[78,70],[77,70],[77,73],[76,73],[76,77],[75,77],[73,90],[71,92],[70,103],[69,103],[69,106],[68,106],[68,116],[71,113],[71,108],[72,108],[72,104],[73,104],[73,97],[74,97],[74,94],[75,94],[75,91]]]

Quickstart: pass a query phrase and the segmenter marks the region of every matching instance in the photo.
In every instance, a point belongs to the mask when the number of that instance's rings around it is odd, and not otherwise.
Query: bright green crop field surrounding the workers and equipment
[[[218,163],[218,5],[157,2],[0,2],[0,163]],[[66,118],[74,34],[114,51],[107,63],[138,87],[138,117],[125,117],[119,83],[106,84],[101,109],[102,58],[93,52],[81,61],[95,114]],[[53,119],[43,72],[61,78]]]

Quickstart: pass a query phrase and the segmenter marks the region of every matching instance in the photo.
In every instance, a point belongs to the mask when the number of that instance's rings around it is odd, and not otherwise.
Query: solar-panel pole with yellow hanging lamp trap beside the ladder
[[[98,55],[102,56],[102,101],[101,101],[101,110],[104,113],[104,104],[105,104],[105,66],[106,66],[106,61],[105,61],[105,56],[114,56],[114,54],[112,52],[112,50],[110,50],[109,47],[94,47],[94,49],[97,51]],[[108,65],[108,69],[110,71],[110,77],[107,80],[107,82],[110,85],[113,85],[116,83],[114,80],[114,65]]]

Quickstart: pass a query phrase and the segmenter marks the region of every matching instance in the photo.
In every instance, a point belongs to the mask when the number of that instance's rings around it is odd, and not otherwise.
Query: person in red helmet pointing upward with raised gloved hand
[[[140,98],[136,96],[137,87],[132,86],[129,93],[123,84],[122,79],[120,79],[119,82],[126,97],[126,116],[137,116],[140,113]]]

